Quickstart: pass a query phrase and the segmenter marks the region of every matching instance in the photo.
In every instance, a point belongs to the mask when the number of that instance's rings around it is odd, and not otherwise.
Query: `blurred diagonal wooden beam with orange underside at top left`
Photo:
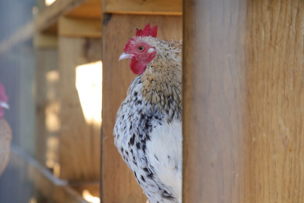
[[[91,19],[89,30],[91,35],[96,37],[98,28],[92,28],[97,25],[97,20],[101,19],[101,1],[99,0],[56,0],[52,5],[42,10],[34,19],[24,26],[21,26],[16,33],[12,34],[9,39],[0,42],[0,54],[9,51],[17,44],[29,40],[37,32],[48,34],[57,34],[58,20],[62,16],[72,18]],[[95,21],[93,21],[95,19]],[[93,23],[94,22],[94,23]],[[99,26],[100,27],[100,26]],[[72,31],[72,30],[70,30]],[[77,30],[76,30],[77,31]],[[87,34],[83,30],[80,35]],[[93,32],[93,33],[92,33]],[[38,40],[39,41],[39,40]],[[48,40],[48,42],[50,42]],[[44,46],[44,45],[42,45]]]

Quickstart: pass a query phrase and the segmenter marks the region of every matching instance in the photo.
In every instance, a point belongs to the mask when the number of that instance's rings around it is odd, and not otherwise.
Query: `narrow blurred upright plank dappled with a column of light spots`
[[[53,168],[58,162],[59,73],[56,49],[36,50],[36,159]]]

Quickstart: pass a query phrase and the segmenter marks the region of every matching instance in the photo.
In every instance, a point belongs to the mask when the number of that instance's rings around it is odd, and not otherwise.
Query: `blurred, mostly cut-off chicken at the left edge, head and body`
[[[9,161],[9,149],[12,139],[11,128],[5,119],[3,119],[3,108],[9,109],[8,100],[9,98],[5,93],[4,86],[0,82],[0,175]]]

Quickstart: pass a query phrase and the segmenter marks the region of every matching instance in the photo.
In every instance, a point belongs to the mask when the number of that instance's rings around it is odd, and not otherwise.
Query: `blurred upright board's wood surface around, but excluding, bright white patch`
[[[101,123],[86,122],[75,84],[77,66],[101,60],[101,40],[59,37],[58,51],[60,177],[75,181],[99,180]]]

